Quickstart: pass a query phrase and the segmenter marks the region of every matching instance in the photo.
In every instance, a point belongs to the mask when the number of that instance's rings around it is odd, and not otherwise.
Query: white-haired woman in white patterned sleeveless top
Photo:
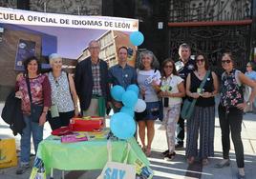
[[[52,107],[47,119],[52,129],[68,126],[70,119],[78,115],[77,95],[71,74],[62,70],[62,58],[53,53],[49,56],[52,71],[48,78],[52,88]]]

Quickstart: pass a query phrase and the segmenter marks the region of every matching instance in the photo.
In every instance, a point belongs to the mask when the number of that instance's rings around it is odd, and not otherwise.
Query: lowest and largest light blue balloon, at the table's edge
[[[133,117],[117,112],[110,119],[110,129],[119,139],[129,139],[135,134],[136,124]]]

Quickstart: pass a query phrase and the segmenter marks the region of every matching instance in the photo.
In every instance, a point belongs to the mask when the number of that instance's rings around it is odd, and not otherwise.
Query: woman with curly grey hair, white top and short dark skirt
[[[145,50],[139,54],[138,84],[139,96],[146,102],[146,115],[137,118],[139,138],[142,150],[147,156],[151,154],[151,144],[155,135],[155,120],[160,115],[160,102],[156,93],[160,85],[159,62],[152,51]],[[147,146],[145,145],[145,129],[147,129]]]

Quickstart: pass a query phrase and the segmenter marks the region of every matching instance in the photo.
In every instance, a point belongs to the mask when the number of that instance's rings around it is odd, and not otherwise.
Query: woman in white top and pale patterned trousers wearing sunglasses
[[[163,102],[163,123],[166,129],[168,149],[163,152],[165,160],[175,156],[175,130],[181,112],[182,97],[185,96],[183,79],[178,76],[174,61],[170,58],[162,62],[160,97]]]

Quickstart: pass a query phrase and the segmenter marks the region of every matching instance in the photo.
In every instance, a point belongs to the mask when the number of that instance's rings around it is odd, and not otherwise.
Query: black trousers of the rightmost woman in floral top
[[[229,112],[226,113],[226,109],[222,105],[219,105],[218,111],[220,126],[222,129],[223,157],[224,159],[229,159],[229,133],[231,130],[231,138],[235,148],[237,167],[244,168],[244,147],[241,139],[243,110],[237,108],[230,108]]]

